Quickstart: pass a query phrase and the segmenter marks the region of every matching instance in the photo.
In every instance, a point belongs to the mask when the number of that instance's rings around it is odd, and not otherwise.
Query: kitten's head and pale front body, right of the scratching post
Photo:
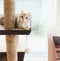
[[[18,28],[23,28],[25,30],[30,29],[30,19],[31,19],[31,13],[24,13],[23,10],[21,10],[21,14],[18,18]]]

